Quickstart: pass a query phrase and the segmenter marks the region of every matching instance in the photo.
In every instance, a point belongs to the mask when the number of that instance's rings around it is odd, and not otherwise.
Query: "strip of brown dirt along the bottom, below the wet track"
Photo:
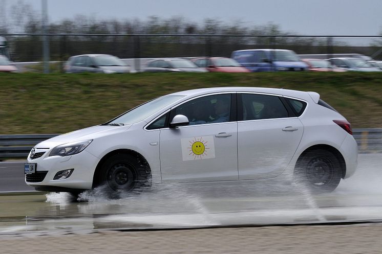
[[[382,224],[62,233],[3,235],[0,253],[382,252]]]

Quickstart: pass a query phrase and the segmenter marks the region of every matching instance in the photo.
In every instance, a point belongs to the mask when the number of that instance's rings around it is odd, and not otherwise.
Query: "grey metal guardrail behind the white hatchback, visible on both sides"
[[[26,158],[38,143],[59,134],[0,135],[1,158]],[[359,153],[382,152],[382,128],[353,129]]]

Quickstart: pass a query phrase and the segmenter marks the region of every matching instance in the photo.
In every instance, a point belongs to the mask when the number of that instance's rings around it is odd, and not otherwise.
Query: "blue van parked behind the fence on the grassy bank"
[[[307,71],[308,65],[291,50],[237,50],[231,58],[251,72]]]

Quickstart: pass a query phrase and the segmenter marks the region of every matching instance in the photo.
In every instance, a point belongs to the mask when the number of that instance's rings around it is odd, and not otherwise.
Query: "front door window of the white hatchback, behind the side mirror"
[[[183,114],[189,125],[230,121],[231,95],[210,95],[186,102],[175,108],[174,115]]]

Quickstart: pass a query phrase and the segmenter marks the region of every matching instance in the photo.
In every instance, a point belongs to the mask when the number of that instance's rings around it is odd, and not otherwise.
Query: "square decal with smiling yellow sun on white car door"
[[[183,160],[215,158],[214,136],[182,138]]]

